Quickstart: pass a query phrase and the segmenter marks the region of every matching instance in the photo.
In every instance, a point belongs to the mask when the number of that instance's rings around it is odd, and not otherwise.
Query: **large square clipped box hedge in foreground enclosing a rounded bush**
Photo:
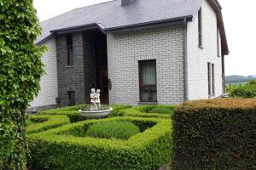
[[[98,122],[154,123],[130,139],[83,136],[83,128]],[[30,136],[29,167],[38,169],[157,169],[170,161],[171,120],[113,117],[69,124]],[[79,134],[80,131],[80,134]],[[74,132],[77,132],[74,134]]]

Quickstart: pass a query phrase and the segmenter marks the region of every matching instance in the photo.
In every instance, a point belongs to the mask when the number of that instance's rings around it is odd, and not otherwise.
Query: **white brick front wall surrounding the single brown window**
[[[108,35],[110,104],[139,102],[138,61],[156,59],[159,104],[183,102],[183,27],[170,26]]]

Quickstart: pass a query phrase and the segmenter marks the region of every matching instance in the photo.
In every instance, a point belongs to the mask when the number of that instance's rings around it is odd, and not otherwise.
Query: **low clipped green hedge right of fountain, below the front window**
[[[156,117],[170,118],[172,111],[176,108],[175,105],[138,105],[131,109],[119,111],[119,116],[139,116],[139,117]],[[169,113],[166,114],[166,109]],[[155,111],[155,112],[153,112]]]

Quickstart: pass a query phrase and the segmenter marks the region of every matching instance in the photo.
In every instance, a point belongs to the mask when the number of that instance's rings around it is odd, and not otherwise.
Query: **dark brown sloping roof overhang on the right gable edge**
[[[212,8],[215,11],[216,16],[217,16],[217,24],[218,24],[220,37],[221,37],[222,54],[228,55],[228,54],[230,54],[230,49],[229,49],[229,45],[228,45],[228,41],[227,41],[227,37],[226,37],[225,28],[224,28],[224,20],[223,20],[223,16],[221,13],[221,6],[218,3],[218,0],[208,0],[208,2],[212,6]]]

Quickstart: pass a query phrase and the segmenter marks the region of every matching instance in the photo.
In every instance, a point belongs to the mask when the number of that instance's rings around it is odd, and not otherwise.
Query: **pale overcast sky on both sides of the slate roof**
[[[73,8],[109,0],[34,0],[40,21],[48,20]],[[256,1],[219,0],[230,46],[225,57],[226,75],[256,75]]]

